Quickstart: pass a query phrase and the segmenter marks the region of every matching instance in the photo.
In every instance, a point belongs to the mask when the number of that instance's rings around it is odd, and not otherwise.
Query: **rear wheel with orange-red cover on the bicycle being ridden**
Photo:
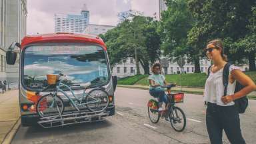
[[[158,103],[156,101],[149,101],[147,105],[147,112],[149,113],[149,119],[152,123],[157,123],[160,118],[158,111]]]

